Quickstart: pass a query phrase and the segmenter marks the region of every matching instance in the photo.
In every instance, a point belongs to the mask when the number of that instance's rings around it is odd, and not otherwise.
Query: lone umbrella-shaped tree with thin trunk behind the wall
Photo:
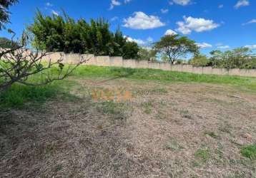
[[[169,62],[172,64],[178,58],[187,56],[188,53],[197,54],[199,51],[195,41],[179,35],[163,36],[160,41],[154,43],[154,49],[168,56]]]

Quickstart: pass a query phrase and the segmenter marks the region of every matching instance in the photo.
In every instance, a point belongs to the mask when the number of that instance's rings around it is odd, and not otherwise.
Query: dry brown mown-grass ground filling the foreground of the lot
[[[67,98],[0,112],[0,177],[256,177],[256,162],[240,154],[256,142],[255,94],[69,80],[77,85]],[[117,100],[119,90],[127,101]]]

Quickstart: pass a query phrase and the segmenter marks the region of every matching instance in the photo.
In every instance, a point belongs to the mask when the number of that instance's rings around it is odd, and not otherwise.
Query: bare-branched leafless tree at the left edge
[[[48,58],[49,53],[39,51],[38,48],[28,49],[29,36],[26,33],[21,41],[14,41],[15,33],[11,38],[11,48],[0,48],[0,92],[6,90],[14,83],[23,85],[46,85],[54,80],[67,78],[78,66],[89,58],[81,57],[76,63],[64,66],[63,55],[58,60]],[[47,60],[45,60],[47,59]],[[53,71],[51,68],[57,68]],[[29,80],[29,76],[40,74],[43,79],[37,82]]]

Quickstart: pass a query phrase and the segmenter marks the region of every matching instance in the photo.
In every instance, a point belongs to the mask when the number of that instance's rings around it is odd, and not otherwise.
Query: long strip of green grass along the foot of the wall
[[[235,85],[237,88],[256,91],[256,78],[229,75],[205,75],[181,73],[157,69],[117,68],[99,66],[79,66],[73,76],[87,78],[131,78],[138,80],[159,80],[164,82],[195,82]]]

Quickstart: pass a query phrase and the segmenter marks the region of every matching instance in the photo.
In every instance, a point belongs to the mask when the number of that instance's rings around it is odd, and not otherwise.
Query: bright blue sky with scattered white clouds
[[[45,15],[74,19],[104,17],[130,41],[150,46],[164,34],[178,33],[196,41],[202,53],[241,46],[256,49],[255,0],[19,0],[11,6],[11,24],[19,36],[33,23],[36,9]],[[6,31],[0,36],[10,37]]]

